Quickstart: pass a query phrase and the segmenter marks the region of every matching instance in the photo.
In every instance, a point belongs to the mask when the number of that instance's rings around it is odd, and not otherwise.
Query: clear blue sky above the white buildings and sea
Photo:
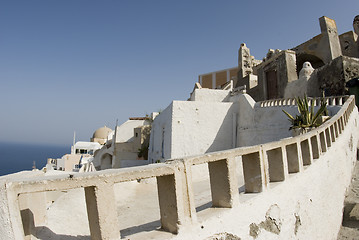
[[[359,1],[0,0],[0,141],[70,145],[186,100],[199,74],[352,30]]]

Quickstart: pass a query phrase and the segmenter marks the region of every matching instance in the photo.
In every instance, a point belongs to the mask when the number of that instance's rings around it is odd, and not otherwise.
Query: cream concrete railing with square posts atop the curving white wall
[[[14,239],[23,238],[19,196],[26,193],[84,188],[91,239],[119,238],[113,185],[156,177],[162,228],[177,233],[182,226],[197,222],[192,184],[192,166],[208,164],[212,204],[232,208],[239,204],[236,164],[242,160],[246,193],[260,193],[270,182],[280,182],[304,170],[343,133],[355,108],[354,96],[325,98],[340,105],[339,112],[320,127],[297,137],[251,147],[169,160],[129,169],[111,169],[68,177],[39,177],[6,184]],[[310,99],[320,104],[320,98]],[[262,107],[294,105],[294,99],[261,102]],[[14,203],[14,204],[12,204]],[[17,234],[17,235],[16,235]]]

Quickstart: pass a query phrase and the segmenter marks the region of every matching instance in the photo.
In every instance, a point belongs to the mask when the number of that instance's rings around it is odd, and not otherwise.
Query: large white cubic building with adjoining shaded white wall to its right
[[[223,98],[211,98],[216,92]],[[228,93],[196,89],[192,97],[201,100],[173,101],[152,124],[150,163],[291,136],[290,122],[282,110],[295,116],[298,113],[296,106],[260,107],[248,94],[229,96]],[[224,96],[230,102],[220,101]],[[213,101],[204,101],[207,98]],[[339,106],[328,106],[330,115],[339,109]]]

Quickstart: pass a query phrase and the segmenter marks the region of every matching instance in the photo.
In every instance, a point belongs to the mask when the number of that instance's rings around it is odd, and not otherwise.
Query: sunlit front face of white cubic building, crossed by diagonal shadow
[[[173,102],[170,158],[232,147],[233,103]]]

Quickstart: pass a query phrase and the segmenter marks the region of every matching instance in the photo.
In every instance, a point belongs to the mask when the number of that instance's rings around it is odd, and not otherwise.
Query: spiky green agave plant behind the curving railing
[[[322,123],[320,117],[327,115],[328,113],[327,103],[322,99],[320,101],[320,108],[316,113],[314,113],[314,101],[312,101],[311,106],[309,107],[308,98],[306,95],[304,95],[303,99],[296,97],[295,100],[297,102],[299,115],[293,117],[287,111],[282,110],[289,118],[289,121],[292,123],[292,126],[289,128],[289,130],[295,128],[305,129],[318,127]]]

